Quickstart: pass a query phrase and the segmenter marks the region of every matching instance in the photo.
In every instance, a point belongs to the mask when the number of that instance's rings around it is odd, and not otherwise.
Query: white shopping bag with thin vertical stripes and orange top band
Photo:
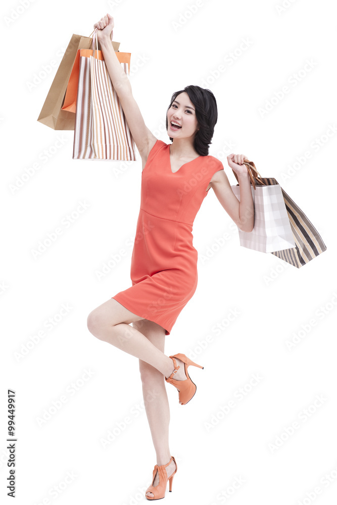
[[[115,54],[128,75],[131,54]],[[73,159],[136,159],[120,100],[97,48],[80,49]]]

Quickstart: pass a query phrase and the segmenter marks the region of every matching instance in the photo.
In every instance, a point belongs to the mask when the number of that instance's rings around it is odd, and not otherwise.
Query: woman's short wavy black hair
[[[196,117],[199,124],[199,130],[195,134],[194,148],[199,156],[208,156],[209,144],[214,133],[214,126],[218,120],[218,109],[216,99],[210,89],[204,89],[200,86],[185,86],[180,91],[175,91],[171,98],[171,103],[167,109],[169,111],[178,94],[186,92],[190,101],[196,108]],[[166,131],[168,129],[166,112]],[[170,137],[173,141],[173,138]]]

